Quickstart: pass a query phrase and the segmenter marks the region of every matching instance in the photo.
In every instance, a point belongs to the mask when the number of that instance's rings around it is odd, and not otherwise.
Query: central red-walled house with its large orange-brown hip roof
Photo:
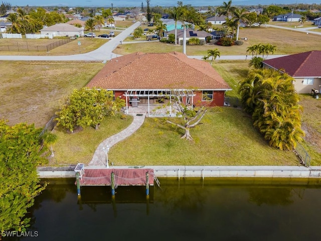
[[[142,67],[143,66],[143,67]],[[173,89],[192,90],[190,104],[223,106],[230,86],[208,63],[183,53],[133,53],[108,62],[87,84],[114,91],[128,106],[161,105]],[[132,101],[137,100],[139,102]]]

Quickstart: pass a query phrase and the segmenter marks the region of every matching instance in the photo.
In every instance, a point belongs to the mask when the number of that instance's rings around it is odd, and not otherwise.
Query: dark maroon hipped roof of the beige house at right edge
[[[292,77],[321,76],[321,51],[309,51],[280,58],[264,60],[275,69],[284,69]]]

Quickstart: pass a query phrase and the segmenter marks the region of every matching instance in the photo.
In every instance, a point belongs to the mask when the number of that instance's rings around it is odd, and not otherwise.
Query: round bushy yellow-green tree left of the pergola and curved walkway
[[[67,103],[58,112],[58,125],[69,129],[75,127],[94,127],[98,130],[99,124],[108,115],[114,115],[124,106],[124,100],[116,98],[112,91],[102,88],[74,89]]]

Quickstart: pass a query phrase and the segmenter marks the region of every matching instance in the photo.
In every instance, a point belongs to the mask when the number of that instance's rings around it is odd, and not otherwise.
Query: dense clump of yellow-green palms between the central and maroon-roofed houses
[[[292,77],[272,69],[252,70],[240,82],[244,110],[252,115],[253,126],[269,145],[292,150],[302,141],[299,96]]]

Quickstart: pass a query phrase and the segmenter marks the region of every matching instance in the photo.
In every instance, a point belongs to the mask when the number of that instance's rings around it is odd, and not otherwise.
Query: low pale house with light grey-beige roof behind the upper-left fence
[[[84,36],[84,30],[70,24],[55,24],[40,30],[41,34],[56,34],[56,36]]]

